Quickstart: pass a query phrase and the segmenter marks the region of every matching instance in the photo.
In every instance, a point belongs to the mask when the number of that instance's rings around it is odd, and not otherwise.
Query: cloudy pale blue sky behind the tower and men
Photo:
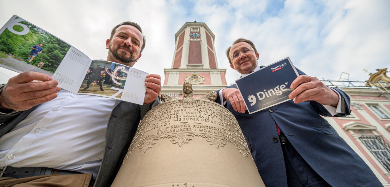
[[[91,59],[106,59],[113,26],[136,22],[146,46],[134,68],[160,74],[162,82],[163,69],[172,65],[175,33],[195,20],[215,34],[218,67],[227,69],[228,84],[239,73],[225,50],[240,37],[254,42],[259,65],[289,56],[320,80],[339,80],[345,72],[351,81],[365,81],[369,72],[390,68],[389,0],[12,0],[0,1],[0,7],[0,25],[16,14]],[[0,69],[0,83],[14,75]]]

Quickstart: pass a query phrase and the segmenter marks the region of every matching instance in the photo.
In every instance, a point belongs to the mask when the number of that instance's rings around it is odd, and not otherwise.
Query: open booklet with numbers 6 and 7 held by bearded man
[[[59,87],[74,94],[144,103],[148,73],[115,62],[91,60],[16,15],[0,29],[0,66],[16,72],[53,75]]]

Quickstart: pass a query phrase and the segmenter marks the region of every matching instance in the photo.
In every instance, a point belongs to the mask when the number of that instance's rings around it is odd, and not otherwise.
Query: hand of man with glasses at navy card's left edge
[[[222,90],[223,99],[229,100],[234,111],[239,113],[245,113],[244,99],[241,97],[240,92],[237,88],[225,88]]]

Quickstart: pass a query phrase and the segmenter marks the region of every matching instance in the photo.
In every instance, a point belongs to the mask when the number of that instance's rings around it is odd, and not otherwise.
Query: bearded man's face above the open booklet
[[[122,64],[133,66],[141,57],[142,44],[142,34],[135,26],[121,25],[115,30],[112,39],[106,42],[106,48],[109,50],[107,60],[116,59]]]

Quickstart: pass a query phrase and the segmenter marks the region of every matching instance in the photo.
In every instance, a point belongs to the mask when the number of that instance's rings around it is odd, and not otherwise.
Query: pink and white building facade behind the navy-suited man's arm
[[[323,81],[351,98],[351,115],[325,117],[338,134],[390,187],[390,78],[385,69],[369,74],[367,81]]]

